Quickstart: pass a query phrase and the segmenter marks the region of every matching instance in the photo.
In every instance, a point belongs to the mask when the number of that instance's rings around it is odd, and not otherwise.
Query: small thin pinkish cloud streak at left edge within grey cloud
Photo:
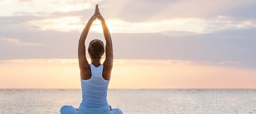
[[[22,43],[20,42],[18,39],[14,39],[14,38],[0,38],[2,41],[7,41],[9,43],[15,44],[15,45],[19,45],[19,46],[40,46],[42,45],[41,43]]]

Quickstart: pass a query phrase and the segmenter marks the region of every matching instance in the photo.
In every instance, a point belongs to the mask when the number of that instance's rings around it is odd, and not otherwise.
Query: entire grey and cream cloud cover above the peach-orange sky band
[[[0,13],[0,38],[12,38],[0,39],[0,59],[77,58],[78,38],[93,14],[91,6],[99,3],[116,59],[229,61],[256,67],[255,0],[17,2],[2,0],[0,4],[5,10]],[[72,7],[60,11],[60,5]],[[98,21],[86,46],[93,38],[104,40]]]

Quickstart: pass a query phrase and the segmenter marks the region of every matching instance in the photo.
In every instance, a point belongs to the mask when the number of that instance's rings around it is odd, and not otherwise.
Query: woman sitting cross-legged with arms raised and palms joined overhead
[[[103,41],[94,39],[89,43],[88,52],[92,60],[91,64],[88,63],[85,55],[84,42],[95,19],[101,21],[106,39],[106,59],[103,64],[100,63],[100,59],[105,52]],[[96,5],[95,13],[89,19],[79,39],[78,60],[83,100],[80,103],[79,109],[73,106],[62,106],[61,114],[122,114],[120,109],[111,109],[106,99],[113,66],[113,47],[109,29],[100,14],[98,5]]]

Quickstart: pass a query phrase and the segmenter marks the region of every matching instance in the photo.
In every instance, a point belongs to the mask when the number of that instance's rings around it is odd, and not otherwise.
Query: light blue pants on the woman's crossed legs
[[[97,109],[77,109],[73,106],[62,106],[61,114],[122,114],[120,109],[97,108]]]

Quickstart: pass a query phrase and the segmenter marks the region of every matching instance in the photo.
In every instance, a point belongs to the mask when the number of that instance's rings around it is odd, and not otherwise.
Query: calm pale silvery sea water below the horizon
[[[109,90],[124,114],[256,114],[256,90]],[[0,90],[0,114],[59,114],[81,90]]]

